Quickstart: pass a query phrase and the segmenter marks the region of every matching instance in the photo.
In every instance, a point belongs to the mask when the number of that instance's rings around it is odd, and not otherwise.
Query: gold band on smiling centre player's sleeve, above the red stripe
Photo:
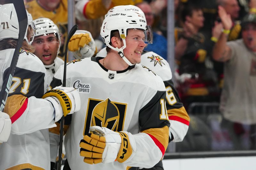
[[[168,126],[164,126],[163,128],[151,128],[147,130],[143,130],[142,133],[147,133],[154,136],[166,150],[169,143],[169,128]]]

